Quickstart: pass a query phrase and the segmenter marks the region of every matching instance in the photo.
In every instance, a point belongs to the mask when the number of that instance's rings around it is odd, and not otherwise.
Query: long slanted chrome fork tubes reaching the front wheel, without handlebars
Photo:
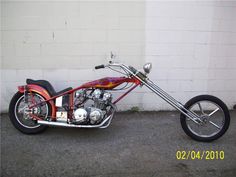
[[[195,122],[196,124],[199,124],[199,125],[202,123],[202,120],[200,119],[200,117],[196,113],[186,109],[182,103],[175,100],[172,96],[170,96],[168,93],[166,93],[164,90],[162,90],[156,84],[154,84],[151,80],[146,79],[142,83],[143,83],[143,85],[148,87],[151,91],[153,91],[155,94],[160,96],[163,100],[165,100],[167,103],[169,103],[171,106],[173,106],[175,109],[177,109],[182,114],[184,114],[189,119],[191,119],[193,122]]]

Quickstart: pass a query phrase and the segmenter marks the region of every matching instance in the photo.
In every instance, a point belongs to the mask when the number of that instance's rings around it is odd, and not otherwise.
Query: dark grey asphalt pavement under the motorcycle
[[[177,112],[117,113],[107,129],[48,128],[24,135],[1,116],[1,176],[236,176],[236,111],[211,143],[183,132]],[[224,151],[224,160],[177,160],[181,151]]]

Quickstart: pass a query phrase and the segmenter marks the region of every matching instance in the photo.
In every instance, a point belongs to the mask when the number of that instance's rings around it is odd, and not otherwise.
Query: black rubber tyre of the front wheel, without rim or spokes
[[[224,122],[223,122],[222,128],[219,130],[219,132],[217,132],[213,136],[209,136],[209,137],[199,136],[199,135],[195,134],[193,131],[191,131],[191,129],[187,125],[187,117],[184,114],[180,115],[180,123],[181,123],[181,126],[182,126],[184,132],[188,136],[193,138],[194,140],[202,141],[202,142],[210,142],[210,141],[220,138],[222,135],[225,134],[225,132],[229,128],[229,124],[230,124],[230,113],[229,113],[227,106],[225,105],[225,103],[223,101],[221,101],[219,98],[211,96],[211,95],[196,96],[196,97],[190,99],[185,104],[185,108],[189,110],[189,109],[191,109],[191,107],[194,104],[196,104],[200,101],[209,101],[209,102],[215,103],[216,105],[218,105],[221,108],[223,115],[224,115]]]

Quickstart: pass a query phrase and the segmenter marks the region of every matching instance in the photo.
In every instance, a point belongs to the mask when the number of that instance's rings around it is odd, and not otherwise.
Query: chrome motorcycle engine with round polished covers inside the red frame
[[[87,90],[76,93],[75,105],[79,108],[74,110],[75,124],[98,124],[106,114],[106,107],[111,103],[112,95],[104,90],[95,89],[92,94]],[[92,101],[92,105],[86,105]]]

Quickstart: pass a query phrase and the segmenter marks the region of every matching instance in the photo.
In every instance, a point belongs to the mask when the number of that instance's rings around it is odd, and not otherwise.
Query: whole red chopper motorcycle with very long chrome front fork
[[[77,88],[56,92],[46,80],[26,80],[19,86],[9,106],[9,117],[15,128],[26,134],[42,132],[47,126],[76,128],[107,128],[116,111],[116,103],[137,86],[146,86],[180,111],[180,122],[187,135],[197,141],[212,141],[221,137],[229,127],[227,106],[211,95],[200,95],[185,105],[154,84],[148,74],[151,63],[138,71],[112,61],[95,69],[110,68],[124,77],[105,77]],[[122,84],[126,84],[121,87]],[[113,101],[109,91],[128,89]]]

